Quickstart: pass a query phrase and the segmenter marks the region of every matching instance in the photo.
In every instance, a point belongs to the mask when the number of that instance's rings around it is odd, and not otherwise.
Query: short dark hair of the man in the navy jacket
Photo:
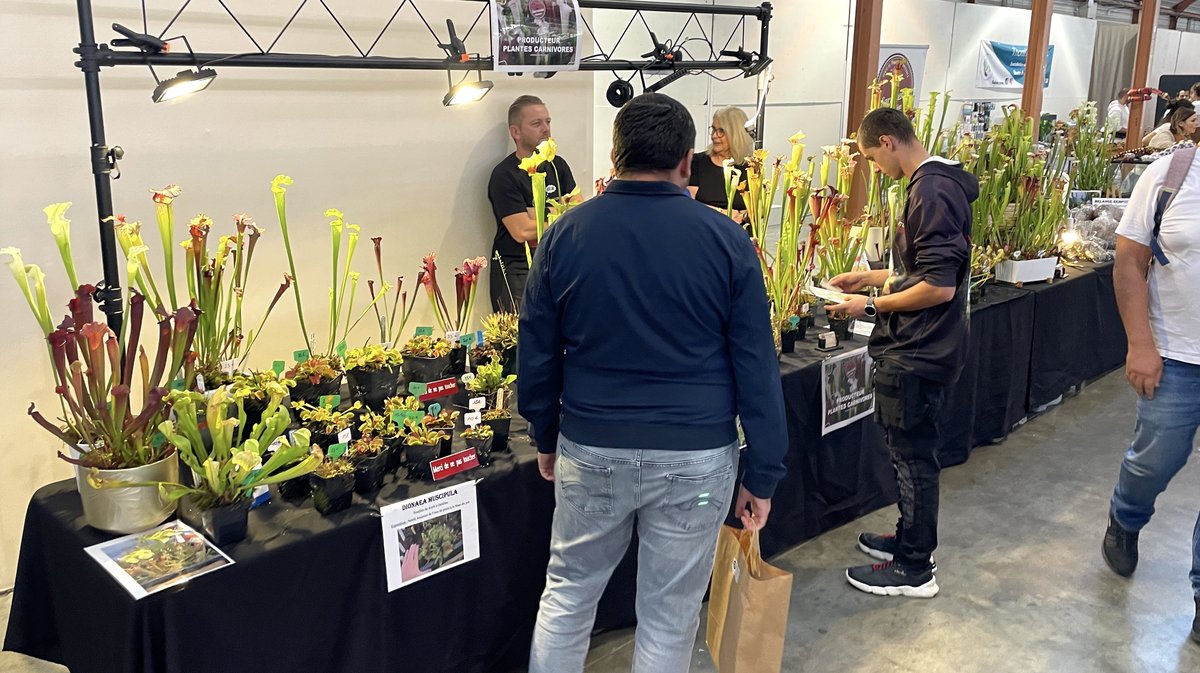
[[[617,113],[612,160],[617,173],[670,170],[696,146],[696,122],[683,103],[664,94],[642,94]]]

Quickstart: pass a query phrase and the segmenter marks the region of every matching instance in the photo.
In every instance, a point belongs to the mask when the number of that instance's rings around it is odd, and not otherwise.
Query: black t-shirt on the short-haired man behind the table
[[[544,162],[538,168],[540,173],[546,174],[547,199],[557,199],[575,191],[575,176],[571,175],[571,167],[566,166],[566,161],[560,156],[556,156],[553,163],[553,168],[550,167],[548,162]],[[492,215],[496,216],[496,240],[492,244],[492,250],[500,254],[505,265],[517,265],[517,268],[528,271],[529,264],[524,257],[524,244],[518,244],[509,233],[509,228],[504,226],[505,217],[533,208],[533,185],[529,181],[529,174],[521,170],[521,160],[517,158],[516,152],[504,157],[504,161],[492,169],[492,178],[487,181],[487,200],[492,202]]]

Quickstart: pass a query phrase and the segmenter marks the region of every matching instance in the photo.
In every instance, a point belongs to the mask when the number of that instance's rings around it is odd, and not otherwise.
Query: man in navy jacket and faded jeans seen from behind
[[[583,669],[596,602],[637,527],[634,671],[685,673],[734,510],[767,522],[787,449],[762,270],[745,233],[690,198],[696,128],[630,101],[614,180],[541,240],[521,312],[521,414],[557,507],[530,673]]]

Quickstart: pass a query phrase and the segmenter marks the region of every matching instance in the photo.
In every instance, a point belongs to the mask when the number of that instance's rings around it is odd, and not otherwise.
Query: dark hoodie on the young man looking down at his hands
[[[971,283],[971,203],[979,181],[958,163],[923,163],[908,185],[908,203],[892,245],[892,292],[920,281],[958,288],[954,299],[922,311],[880,314],[871,357],[883,366],[937,383],[954,383],[967,348]]]

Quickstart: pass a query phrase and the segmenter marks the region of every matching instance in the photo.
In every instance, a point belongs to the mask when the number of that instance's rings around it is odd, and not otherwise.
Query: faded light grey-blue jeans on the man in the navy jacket
[[[648,451],[582,446],[559,435],[550,566],[529,673],[583,671],[596,603],[634,525],[634,672],[688,672],[737,458],[737,444]]]

